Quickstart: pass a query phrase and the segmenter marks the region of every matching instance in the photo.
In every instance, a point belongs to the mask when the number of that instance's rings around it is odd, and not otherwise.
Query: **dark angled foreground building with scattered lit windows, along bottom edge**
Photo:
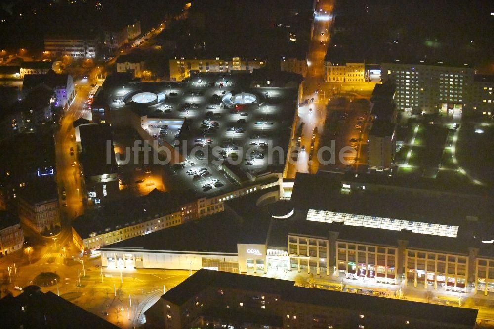
[[[144,314],[150,328],[474,328],[477,310],[296,287],[202,269]]]

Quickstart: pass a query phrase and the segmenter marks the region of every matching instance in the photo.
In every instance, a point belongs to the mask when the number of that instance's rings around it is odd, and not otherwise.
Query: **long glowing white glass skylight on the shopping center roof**
[[[410,220],[355,215],[343,212],[309,209],[307,220],[323,223],[341,222],[344,225],[373,227],[385,230],[410,230],[413,233],[456,238],[458,226],[441,225]]]

